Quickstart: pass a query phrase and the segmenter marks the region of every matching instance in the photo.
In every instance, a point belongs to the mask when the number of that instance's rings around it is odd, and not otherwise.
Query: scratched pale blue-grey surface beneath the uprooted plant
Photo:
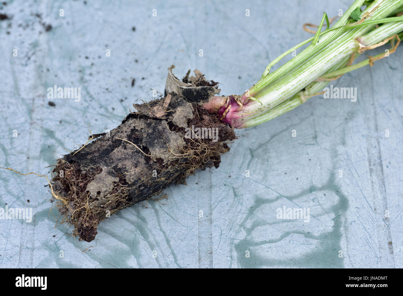
[[[311,37],[303,23],[352,1],[6,2],[0,164],[49,175],[56,156],[86,142],[86,123],[93,133],[112,129],[152,98],[150,88],[162,92],[171,64],[177,76],[197,68],[221,82],[222,95],[241,94]],[[315,97],[237,131],[219,169],[170,186],[168,200],[122,210],[91,243],[54,228],[44,178],[0,170],[0,206],[35,214],[32,223],[0,220],[0,267],[403,267],[402,66],[403,48],[333,82],[357,87],[357,102]],[[54,84],[81,87],[81,101],[48,105]],[[277,220],[283,206],[310,208],[310,222]]]

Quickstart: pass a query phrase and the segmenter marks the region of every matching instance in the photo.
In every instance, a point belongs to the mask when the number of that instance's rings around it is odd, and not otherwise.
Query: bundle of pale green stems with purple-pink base
[[[325,13],[315,36],[273,60],[262,78],[243,95],[216,99],[214,105],[221,103],[219,108],[214,106],[218,117],[235,128],[264,123],[317,95],[328,81],[365,65],[372,66],[374,61],[393,53],[400,42],[397,34],[403,31],[403,16],[393,14],[403,0],[374,0],[361,12],[359,21],[351,23],[350,14],[363,3],[364,0],[356,0],[330,29]],[[320,33],[325,20],[327,29]],[[387,53],[351,65],[359,54],[395,38],[397,43]],[[310,46],[270,73],[276,62],[309,42]],[[206,107],[214,112],[211,106]]]

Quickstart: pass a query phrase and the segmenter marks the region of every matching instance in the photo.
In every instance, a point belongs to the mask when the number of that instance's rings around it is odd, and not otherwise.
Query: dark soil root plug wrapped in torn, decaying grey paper
[[[179,81],[168,69],[165,96],[133,105],[118,127],[60,158],[52,173],[56,201],[74,234],[91,241],[98,224],[120,209],[150,199],[171,183],[186,184],[197,169],[218,168],[236,138],[233,128],[202,107],[219,92],[199,71]],[[193,94],[193,97],[189,96]],[[218,141],[186,137],[189,127],[218,128]]]

